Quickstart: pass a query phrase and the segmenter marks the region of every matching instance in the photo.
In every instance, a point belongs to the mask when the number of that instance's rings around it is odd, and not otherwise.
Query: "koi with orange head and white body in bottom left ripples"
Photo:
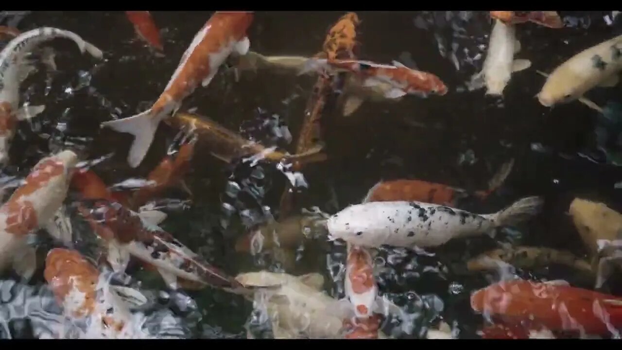
[[[67,318],[85,321],[80,338],[154,338],[142,329],[144,315],[132,315],[129,309],[128,301],[140,305],[147,302],[145,296],[132,288],[110,285],[106,273],[75,250],[50,250],[44,277]]]

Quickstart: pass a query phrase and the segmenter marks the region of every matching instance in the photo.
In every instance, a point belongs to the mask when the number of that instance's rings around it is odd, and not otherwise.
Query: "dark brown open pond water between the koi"
[[[514,158],[514,169],[501,191],[483,204],[466,203],[463,208],[494,212],[519,197],[544,196],[545,210],[539,217],[519,227],[518,235],[501,234],[498,239],[510,242],[513,237],[514,244],[568,249],[585,257],[578,234],[565,214],[569,203],[580,196],[622,209],[622,190],[614,189],[614,184],[622,181],[622,172],[604,161],[596,149],[592,132],[596,111],[578,102],[553,109],[541,106],[534,96],[544,78],[535,70],[550,72],[576,52],[620,33],[619,26],[603,21],[610,12],[560,13],[570,25],[564,29],[533,24],[518,27],[522,44],[518,58],[530,59],[532,67],[514,73],[503,100],[498,100],[485,97],[483,90],[464,92],[463,88],[483,64],[485,47],[478,45],[487,44],[485,35],[491,28],[485,12],[471,13],[468,21],[459,19],[458,12],[358,12],[360,59],[391,62],[410,55],[418,69],[438,75],[450,92],[427,99],[406,97],[399,103],[366,102],[347,118],[337,113],[325,116],[330,158],[304,170],[309,183],[303,192],[304,203],[332,214],[360,202],[379,180],[393,178],[483,189],[499,166]],[[106,62],[94,66],[90,58],[79,57],[73,44],[55,42],[58,72],[37,73],[23,85],[31,103],[45,103],[47,109],[31,125],[20,126],[11,152],[14,166],[6,172],[25,176],[33,164],[59,145],[77,143],[90,159],[114,153],[95,168],[108,184],[145,177],[164,156],[176,130],[160,126],[146,160],[131,169],[125,161],[129,135],[100,130],[99,124],[110,120],[111,114],[133,115],[154,102],[193,35],[210,15],[152,12],[162,32],[164,57],[156,57],[136,39],[123,12],[32,12],[24,17],[18,25],[21,31],[51,26],[76,32],[104,50]],[[249,32],[251,49],[264,55],[316,54],[339,16],[341,12],[258,12]],[[468,59],[478,52],[481,59]],[[458,62],[458,69],[454,62]],[[223,70],[207,88],[187,98],[182,109],[197,108],[198,114],[234,131],[246,131],[244,121],[257,120],[258,108],[268,115],[277,114],[294,136],[287,146],[293,152],[314,81],[314,77],[260,71],[243,73],[241,80],[234,82],[233,75]],[[619,86],[595,89],[587,97],[602,106],[615,98],[619,101],[620,92]],[[543,148],[547,151],[541,151]],[[253,178],[254,169],[264,177],[249,184],[246,181]],[[230,201],[225,191],[228,180],[260,188],[265,196],[241,201],[228,226],[223,227],[221,204]],[[272,215],[279,214],[285,178],[274,166],[230,166],[199,149],[187,182],[195,202],[188,210],[170,214],[165,229],[231,274],[277,268],[269,259],[253,261],[233,250],[235,237],[244,231],[241,210],[257,211],[267,206]],[[381,292],[409,312],[424,308],[411,334],[396,331],[394,335],[422,336],[425,327],[442,318],[457,325],[461,337],[475,337],[482,319],[470,310],[468,298],[471,291],[493,281],[494,275],[468,275],[459,267],[468,257],[498,244],[490,237],[450,242],[433,250],[434,257],[381,249],[380,256],[386,260],[379,270]],[[295,270],[287,272],[321,272],[330,280],[345,260],[345,248],[334,242],[308,245]],[[548,268],[521,273],[536,278],[575,277],[573,272]],[[151,278],[157,282],[157,277]],[[329,283],[328,293],[343,297],[341,283]],[[252,310],[248,302],[210,288],[189,294],[202,313],[196,336],[245,334],[244,323]],[[391,334],[391,326],[385,331]]]

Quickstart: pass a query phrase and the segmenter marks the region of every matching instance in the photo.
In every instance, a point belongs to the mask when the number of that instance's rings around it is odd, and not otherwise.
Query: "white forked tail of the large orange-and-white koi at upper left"
[[[162,120],[162,116],[154,114],[153,110],[149,108],[149,110],[129,118],[106,121],[101,126],[108,126],[119,133],[134,135],[134,141],[128,153],[128,164],[132,168],[136,168],[149,151],[149,146],[154,140],[160,120]]]

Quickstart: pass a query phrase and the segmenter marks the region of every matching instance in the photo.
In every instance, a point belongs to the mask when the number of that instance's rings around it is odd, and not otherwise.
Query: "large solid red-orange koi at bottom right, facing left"
[[[532,321],[551,331],[618,334],[622,298],[560,281],[508,280],[471,294],[474,311],[503,321]]]

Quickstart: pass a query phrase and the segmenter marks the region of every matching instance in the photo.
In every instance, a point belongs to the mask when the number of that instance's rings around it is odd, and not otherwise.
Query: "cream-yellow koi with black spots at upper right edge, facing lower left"
[[[622,70],[622,35],[579,52],[559,65],[537,95],[543,106],[583,97],[597,86],[613,87]]]

